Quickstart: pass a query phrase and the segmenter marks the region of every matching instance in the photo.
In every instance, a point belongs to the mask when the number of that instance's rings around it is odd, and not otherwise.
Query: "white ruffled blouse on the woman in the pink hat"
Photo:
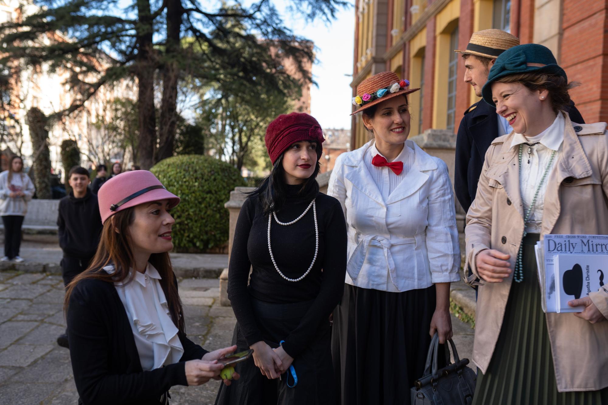
[[[103,269],[108,274],[114,273],[112,265]],[[114,283],[122,305],[125,306],[143,371],[179,362],[184,354],[184,347],[179,341],[179,330],[171,320],[159,280],[161,275],[148,263],[145,272],[135,272],[133,282]]]

